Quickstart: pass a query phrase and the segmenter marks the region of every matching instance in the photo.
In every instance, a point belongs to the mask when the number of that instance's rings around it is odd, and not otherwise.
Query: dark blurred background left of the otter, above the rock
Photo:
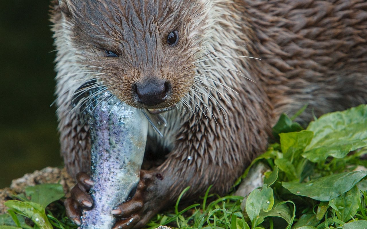
[[[59,155],[48,0],[0,1],[0,188]]]

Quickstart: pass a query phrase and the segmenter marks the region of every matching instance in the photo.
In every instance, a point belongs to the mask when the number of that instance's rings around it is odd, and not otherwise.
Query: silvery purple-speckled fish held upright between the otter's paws
[[[96,88],[91,93],[98,91]],[[91,98],[86,108],[91,137],[91,210],[83,210],[81,229],[111,229],[110,212],[123,203],[139,182],[148,120],[142,111],[110,92]]]

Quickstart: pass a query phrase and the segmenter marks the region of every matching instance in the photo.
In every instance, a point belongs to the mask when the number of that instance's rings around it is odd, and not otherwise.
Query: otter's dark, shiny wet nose
[[[168,93],[167,82],[146,82],[146,84],[135,84],[138,102],[154,106],[166,101]]]

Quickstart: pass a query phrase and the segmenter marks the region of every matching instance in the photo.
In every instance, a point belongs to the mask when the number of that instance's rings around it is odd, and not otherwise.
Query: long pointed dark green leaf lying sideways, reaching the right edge
[[[295,195],[329,201],[349,191],[365,176],[367,176],[367,171],[345,172],[321,177],[302,184],[282,182],[282,186]]]

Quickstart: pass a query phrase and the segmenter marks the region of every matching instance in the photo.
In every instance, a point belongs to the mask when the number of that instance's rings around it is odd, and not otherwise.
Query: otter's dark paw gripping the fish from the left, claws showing
[[[64,205],[69,219],[80,225],[81,210],[89,210],[93,206],[93,199],[88,195],[88,191],[94,183],[90,176],[83,172],[78,173],[76,179],[77,184],[71,190],[71,197],[65,200]]]

